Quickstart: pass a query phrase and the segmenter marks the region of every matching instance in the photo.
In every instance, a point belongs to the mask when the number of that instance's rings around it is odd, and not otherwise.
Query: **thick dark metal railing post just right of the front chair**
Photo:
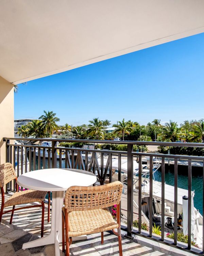
[[[128,144],[127,156],[128,156],[128,195],[127,195],[127,225],[128,232],[126,234],[127,238],[133,239],[132,229],[133,229],[133,155],[132,155],[133,145]]]

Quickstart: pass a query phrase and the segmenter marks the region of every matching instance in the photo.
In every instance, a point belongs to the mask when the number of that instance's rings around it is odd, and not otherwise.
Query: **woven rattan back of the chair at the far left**
[[[16,179],[16,172],[11,163],[0,165],[0,187],[5,186],[8,182]]]

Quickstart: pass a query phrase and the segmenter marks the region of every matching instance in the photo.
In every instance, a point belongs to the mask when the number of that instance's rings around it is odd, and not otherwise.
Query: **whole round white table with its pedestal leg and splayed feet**
[[[54,243],[55,256],[60,256],[62,242],[62,207],[64,191],[71,186],[90,186],[97,180],[95,174],[77,169],[43,169],[27,172],[17,179],[24,188],[52,191],[51,231],[48,236],[24,243],[22,249]]]

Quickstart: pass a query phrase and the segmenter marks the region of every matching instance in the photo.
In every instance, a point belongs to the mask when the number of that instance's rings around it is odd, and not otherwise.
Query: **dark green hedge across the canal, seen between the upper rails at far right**
[[[168,154],[168,150],[170,150],[171,155],[204,156],[204,148],[202,147],[158,147],[159,153]]]

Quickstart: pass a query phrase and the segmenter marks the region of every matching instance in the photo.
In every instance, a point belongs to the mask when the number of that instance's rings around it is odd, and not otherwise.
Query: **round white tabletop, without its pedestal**
[[[18,185],[41,191],[65,191],[71,186],[90,186],[96,182],[96,175],[77,169],[42,169],[27,172],[17,179]]]

